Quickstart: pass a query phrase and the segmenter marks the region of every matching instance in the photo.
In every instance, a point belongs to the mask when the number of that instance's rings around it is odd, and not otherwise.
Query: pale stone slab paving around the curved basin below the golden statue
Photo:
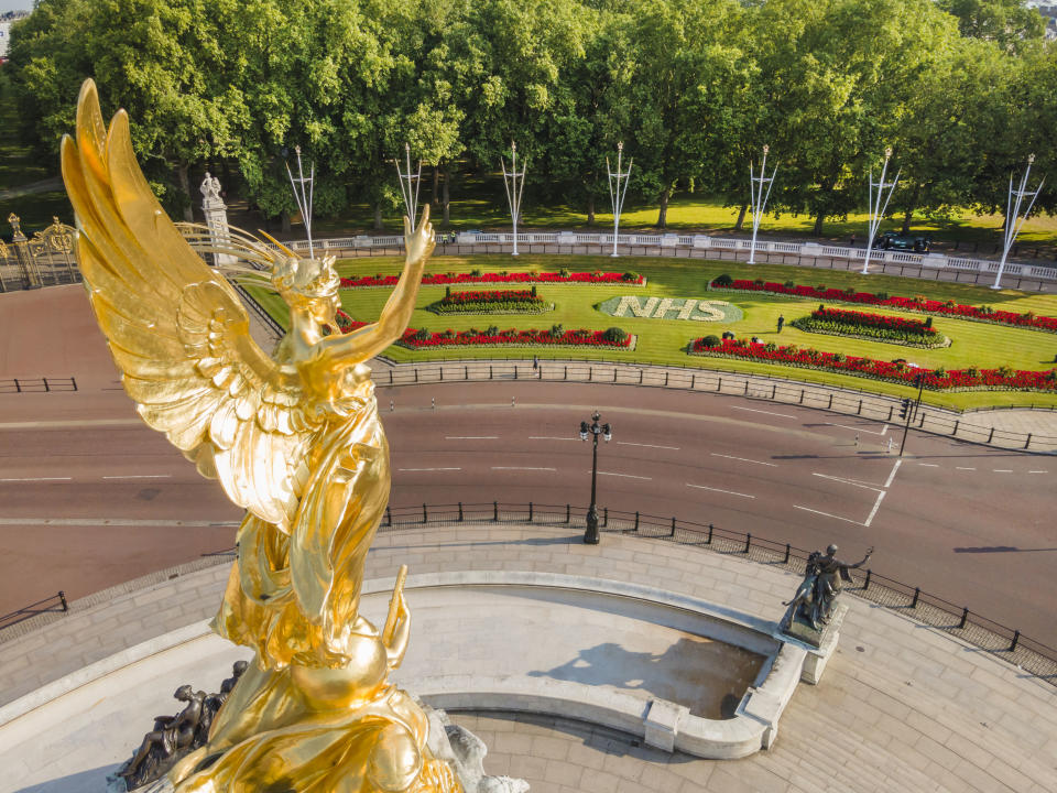
[[[540,525],[386,531],[375,541],[367,577],[389,578],[400,563],[410,564],[413,576],[541,572],[663,587],[772,621],[796,585],[789,574],[735,556],[620,535],[586,546],[579,532]],[[0,791],[57,791],[42,783],[55,776],[83,783],[120,762],[128,741],[115,746],[109,735],[92,735],[86,738],[95,741],[91,750],[67,759],[63,769],[42,771],[46,745],[20,746],[39,717],[34,702],[72,685],[66,696],[74,697],[76,680],[58,678],[209,617],[226,577],[227,565],[175,569],[74,604],[67,617],[47,624],[23,623],[0,634],[8,703],[0,709]],[[846,601],[840,645],[821,684],[799,686],[774,747],[744,760],[667,754],[607,729],[546,717],[478,714],[457,720],[488,741],[489,773],[524,776],[534,793],[1057,789],[1057,688],[898,613]],[[560,637],[574,658],[588,649],[575,647],[573,633]],[[591,636],[581,643],[592,643]],[[187,659],[189,665],[195,661]],[[151,706],[172,709],[171,689],[183,682],[171,681]],[[46,683],[50,694],[12,703]]]

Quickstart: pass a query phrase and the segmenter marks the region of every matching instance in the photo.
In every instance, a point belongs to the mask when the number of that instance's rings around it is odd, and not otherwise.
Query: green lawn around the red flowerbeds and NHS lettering
[[[342,275],[369,275],[374,273],[399,273],[402,261],[395,257],[353,259],[339,263]],[[827,286],[852,286],[861,291],[886,291],[893,295],[926,294],[935,300],[954,300],[974,305],[990,304],[1005,311],[1033,311],[1036,314],[1057,316],[1057,296],[1029,294],[1014,290],[992,291],[987,287],[966,284],[920,282],[884,275],[859,275],[843,272],[820,271],[809,268],[775,265],[755,265],[732,262],[701,262],[689,260],[657,260],[624,257],[617,261],[609,257],[543,257],[521,256],[512,260],[508,256],[436,257],[429,264],[429,272],[468,272],[473,269],[484,271],[554,271],[558,268],[573,271],[585,270],[634,270],[649,279],[643,287],[626,285],[545,285],[538,286],[538,294],[553,301],[555,311],[530,316],[437,316],[425,309],[444,295],[444,286],[423,286],[418,294],[417,307],[411,326],[429,330],[465,330],[470,327],[484,328],[489,325],[509,327],[551,327],[562,323],[566,329],[586,327],[604,329],[618,325],[639,336],[638,347],[633,351],[618,352],[603,349],[552,349],[546,348],[457,348],[448,350],[415,351],[393,346],[386,356],[396,361],[435,360],[437,358],[588,358],[607,360],[634,360],[650,363],[664,363],[694,367],[700,369],[729,369],[753,371],[795,378],[809,382],[824,382],[844,388],[869,390],[892,395],[909,395],[913,389],[892,383],[883,383],[865,378],[808,369],[794,369],[775,365],[754,363],[730,359],[710,359],[688,356],[684,350],[688,341],[708,334],[719,335],[732,330],[739,338],[760,336],[764,341],[796,344],[800,347],[815,347],[827,351],[840,351],[846,355],[869,356],[883,360],[905,358],[928,368],[945,367],[963,369],[969,366],[995,368],[1002,365],[1014,369],[1048,369],[1057,354],[1057,336],[1035,330],[1009,328],[998,325],[973,323],[946,317],[934,318],[934,325],[952,340],[950,347],[922,350],[898,345],[844,339],[836,336],[807,334],[786,325],[781,335],[776,333],[776,321],[783,314],[786,322],[810,313],[816,303],[759,294],[740,295],[733,293],[706,292],[711,278],[723,272],[731,275],[763,278],[774,281],[793,280],[797,283]],[[472,289],[468,286],[467,289]],[[261,303],[284,326],[286,312],[282,301],[274,294],[252,290]],[[615,295],[642,294],[669,297],[697,297],[707,300],[727,300],[741,307],[744,316],[732,324],[704,323],[694,321],[658,321],[645,318],[615,318],[602,314],[596,305]],[[364,322],[378,317],[382,305],[389,297],[386,289],[342,290],[341,302],[345,311],[355,319]],[[889,312],[886,312],[889,313]],[[891,312],[898,314],[898,312]],[[920,314],[908,314],[920,318]],[[1020,393],[999,391],[973,391],[965,393],[926,392],[926,401],[941,406],[965,409],[988,405],[1045,404],[1057,406],[1057,394]]]

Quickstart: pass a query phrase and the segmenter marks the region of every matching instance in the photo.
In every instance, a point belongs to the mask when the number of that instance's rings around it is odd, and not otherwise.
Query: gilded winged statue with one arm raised
[[[290,332],[269,356],[231,283],[162,211],[127,113],[105,127],[91,80],[62,161],[85,286],[126,391],[246,509],[213,629],[252,648],[255,663],[170,781],[179,793],[461,791],[426,746],[422,708],[388,680],[411,626],[400,584],[381,632],[359,613],[390,490],[364,361],[411,318],[435,245],[428,206],[417,230],[404,218],[403,274],[378,322],[351,333],[334,333],[333,259],[243,239],[243,259],[269,264],[290,306]]]

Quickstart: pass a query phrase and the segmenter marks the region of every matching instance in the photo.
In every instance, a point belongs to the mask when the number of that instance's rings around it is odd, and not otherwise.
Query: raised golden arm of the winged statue
[[[412,233],[411,220],[404,216],[404,246],[406,259],[400,282],[393,290],[378,322],[340,336],[328,336],[319,345],[325,354],[335,361],[355,362],[373,358],[404,335],[411,315],[415,311],[415,298],[422,274],[426,269],[429,254],[436,247],[433,224],[429,222],[429,205],[422,211],[422,222]]]

